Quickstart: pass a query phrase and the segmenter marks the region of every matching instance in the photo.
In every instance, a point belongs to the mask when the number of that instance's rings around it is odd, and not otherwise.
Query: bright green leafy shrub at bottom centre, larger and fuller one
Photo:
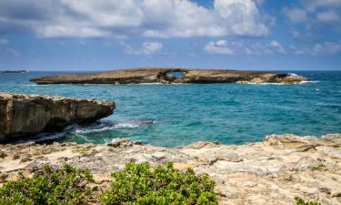
[[[111,189],[102,197],[106,205],[217,204],[213,180],[196,177],[193,169],[174,169],[170,162],[155,169],[149,163],[127,163],[111,177]]]

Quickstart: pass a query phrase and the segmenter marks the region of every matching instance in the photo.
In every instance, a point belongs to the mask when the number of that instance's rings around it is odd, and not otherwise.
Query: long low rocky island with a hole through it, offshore
[[[37,84],[139,84],[139,83],[286,83],[306,77],[260,71],[182,68],[135,68],[92,74],[67,74],[30,79]]]

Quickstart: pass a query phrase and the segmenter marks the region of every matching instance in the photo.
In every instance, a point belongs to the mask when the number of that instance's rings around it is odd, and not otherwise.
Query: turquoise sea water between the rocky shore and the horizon
[[[115,114],[90,127],[41,135],[60,141],[105,143],[132,138],[175,147],[197,140],[243,144],[268,134],[341,132],[341,72],[295,72],[299,85],[52,85],[28,81],[57,73],[0,74],[0,92],[95,97],[115,101]]]

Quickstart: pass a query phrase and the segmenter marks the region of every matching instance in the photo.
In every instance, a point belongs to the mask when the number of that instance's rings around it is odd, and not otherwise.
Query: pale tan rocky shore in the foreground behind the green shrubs
[[[196,142],[166,149],[116,139],[106,145],[35,143],[0,145],[0,184],[18,172],[32,175],[46,164],[68,163],[94,173],[98,191],[107,188],[109,172],[126,162],[173,161],[216,181],[219,204],[295,204],[294,197],[341,204],[341,134],[320,138],[271,135],[241,146]],[[0,185],[1,186],[1,185]]]

